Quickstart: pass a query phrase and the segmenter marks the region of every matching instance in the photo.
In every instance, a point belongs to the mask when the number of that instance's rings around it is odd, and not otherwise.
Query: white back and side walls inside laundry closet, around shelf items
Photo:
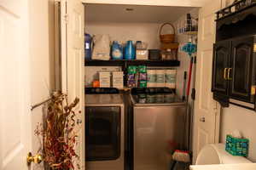
[[[188,11],[192,16],[197,18],[198,8]],[[180,20],[184,20],[184,14],[177,19],[173,25],[177,27]],[[108,34],[111,40],[119,40],[125,42],[127,40],[141,40],[148,42],[148,49],[160,48],[159,40],[160,24],[158,23],[102,23],[102,22],[87,22],[85,23],[85,32],[90,34]],[[163,33],[170,31],[170,27],[166,26]],[[189,37],[177,35],[177,42],[188,42]],[[189,70],[189,57],[183,52],[178,53],[178,59],[181,61],[180,67],[177,67],[177,94],[183,93],[183,72]],[[189,72],[189,71],[188,71]],[[87,75],[88,76],[88,75]]]

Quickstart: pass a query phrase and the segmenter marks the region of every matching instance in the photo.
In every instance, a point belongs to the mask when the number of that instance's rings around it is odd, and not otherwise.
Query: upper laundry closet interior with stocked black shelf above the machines
[[[191,11],[193,14],[190,14]],[[196,41],[197,11],[198,8],[192,7],[84,3],[84,34],[87,36],[90,34],[88,38],[85,35],[85,39],[90,40],[85,41],[84,45],[85,55],[87,54],[85,57],[85,87],[123,89],[140,86],[143,88],[167,87],[178,88],[178,93],[182,95],[183,71],[189,70],[190,62],[188,55],[183,52],[182,48],[189,42],[189,37],[192,37],[185,33],[189,31],[192,34],[194,33],[193,41]],[[186,14],[190,14],[190,17],[192,17],[189,21],[191,22],[189,28],[187,26]],[[166,25],[164,25],[165,23]],[[186,32],[186,29],[189,30]],[[172,42],[160,41],[160,35],[165,36],[170,34],[173,34]],[[97,51],[95,49],[97,48],[97,44],[92,39],[96,39],[99,35],[103,35],[105,40],[107,38],[109,46],[108,50],[105,50],[107,56],[101,57],[101,53],[104,54],[104,50]],[[113,53],[116,53],[113,49],[113,42],[118,42],[119,46],[121,46],[121,52],[118,52],[118,54],[122,54],[120,58],[113,56]],[[143,50],[134,50],[134,58],[130,59],[129,57],[125,57],[127,42],[132,42],[134,48],[136,48],[137,42],[142,42],[145,47],[142,48]],[[104,48],[104,46],[99,47]],[[86,48],[90,48],[90,50],[86,50]],[[96,53],[99,54],[97,55]],[[139,55],[140,53],[142,55]],[[130,70],[128,69],[129,65],[147,66],[149,77],[162,76],[166,72],[167,74],[170,73],[167,77],[170,77],[172,80],[169,83],[165,81],[149,81],[147,84],[139,84],[138,81],[140,80],[136,80],[137,84],[132,84],[133,77],[131,79],[127,77],[128,74],[132,73],[132,67]],[[119,77],[114,79],[113,76],[115,75],[110,74],[107,77],[110,76],[112,78],[107,81],[107,84],[102,84],[101,87],[101,78],[98,72],[104,71],[123,71],[125,76],[124,83],[113,84],[119,82]],[[151,75],[152,72],[153,75]],[[146,81],[146,78],[144,77],[142,81]],[[127,84],[127,82],[131,83]],[[177,83],[179,87],[176,87]]]

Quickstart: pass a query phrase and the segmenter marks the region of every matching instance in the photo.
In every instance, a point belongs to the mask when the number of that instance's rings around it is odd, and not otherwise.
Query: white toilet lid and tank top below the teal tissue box
[[[252,163],[243,156],[232,156],[224,144],[207,144],[197,156],[195,165]]]

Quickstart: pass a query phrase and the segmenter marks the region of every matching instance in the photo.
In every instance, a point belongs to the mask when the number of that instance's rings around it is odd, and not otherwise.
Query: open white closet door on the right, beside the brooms
[[[198,30],[198,52],[197,52],[197,64],[196,64],[196,77],[195,77],[195,118],[194,118],[194,139],[193,139],[193,164],[196,162],[197,155],[200,152],[200,149],[205,144],[212,144],[219,142],[219,129],[220,129],[220,111],[221,107],[217,101],[213,100],[212,95],[212,57],[213,57],[213,43],[215,42],[215,21],[212,16],[219,8],[221,8],[221,0],[213,1],[207,3],[204,7],[200,8],[199,11],[199,30]],[[215,11],[216,10],[216,11]],[[211,24],[211,26],[207,26],[207,29],[203,27],[203,25]],[[204,41],[204,42],[203,42]],[[211,46],[210,46],[211,45]],[[211,59],[206,58],[211,55]],[[205,60],[204,60],[205,59]],[[211,64],[210,64],[211,61]],[[207,62],[207,63],[204,63]],[[209,62],[209,63],[208,63]],[[208,64],[207,66],[211,67],[209,69],[204,64]],[[204,66],[204,67],[203,67]],[[209,70],[207,70],[207,68]],[[206,74],[203,74],[203,70],[206,70]],[[202,81],[203,78],[207,78],[207,80]],[[207,81],[207,82],[206,82]],[[208,82],[209,81],[209,82]],[[207,85],[206,85],[207,84]],[[204,87],[202,87],[204,85]],[[206,88],[202,92],[202,88]],[[207,93],[205,97],[207,99],[202,98],[201,93]],[[202,100],[203,99],[203,100]],[[203,104],[203,102],[205,102]],[[210,113],[209,113],[210,112]],[[201,117],[203,116],[203,117]],[[205,118],[205,120],[201,118]],[[201,119],[201,120],[200,120]],[[203,127],[205,126],[205,127]],[[200,128],[201,127],[201,128]],[[209,131],[209,132],[208,132]],[[198,133],[205,133],[205,140],[199,142]]]

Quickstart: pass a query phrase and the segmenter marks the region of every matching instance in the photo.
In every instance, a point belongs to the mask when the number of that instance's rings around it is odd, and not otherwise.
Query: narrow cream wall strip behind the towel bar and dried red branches
[[[49,98],[54,87],[54,16],[53,0],[30,0],[30,56],[32,104]],[[42,122],[42,106],[32,111],[32,153],[40,147],[39,140],[33,135],[38,122]],[[43,164],[33,169],[44,169]]]

